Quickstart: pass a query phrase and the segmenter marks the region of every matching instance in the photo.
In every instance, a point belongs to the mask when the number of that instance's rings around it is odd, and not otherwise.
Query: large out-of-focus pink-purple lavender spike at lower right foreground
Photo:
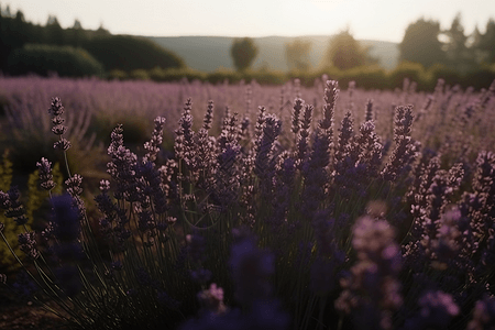
[[[359,328],[393,329],[394,312],[403,305],[402,255],[394,230],[387,221],[365,216],[356,221],[353,234],[358,263],[341,279],[336,308],[351,314]]]

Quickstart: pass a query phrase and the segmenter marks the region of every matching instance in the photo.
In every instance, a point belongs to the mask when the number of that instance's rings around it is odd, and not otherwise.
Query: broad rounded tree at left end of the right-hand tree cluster
[[[436,63],[444,63],[439,34],[439,22],[419,19],[409,24],[399,44],[400,61],[420,63],[427,68]]]

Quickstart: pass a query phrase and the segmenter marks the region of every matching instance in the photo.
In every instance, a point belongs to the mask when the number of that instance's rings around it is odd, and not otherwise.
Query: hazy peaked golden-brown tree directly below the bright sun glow
[[[367,51],[351,35],[349,28],[334,35],[328,45],[323,65],[346,70],[366,64]]]

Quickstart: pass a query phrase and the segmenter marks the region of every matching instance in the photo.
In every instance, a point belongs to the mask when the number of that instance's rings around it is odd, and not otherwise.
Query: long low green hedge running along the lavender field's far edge
[[[480,67],[477,70],[471,72],[468,75],[460,75],[453,69],[438,65],[426,70],[420,64],[403,63],[394,70],[387,72],[380,66],[364,66],[349,69],[345,72],[337,68],[328,68],[315,72],[270,72],[270,70],[248,70],[238,73],[233,70],[218,70],[213,73],[201,73],[191,69],[161,69],[154,68],[151,70],[132,70],[125,73],[122,70],[112,70],[107,75],[108,79],[150,79],[154,81],[177,81],[183,78],[191,80],[209,81],[211,84],[219,84],[226,80],[230,82],[238,82],[242,79],[251,81],[255,79],[262,85],[279,85],[289,79],[299,78],[305,86],[315,84],[316,78],[320,78],[327,74],[329,78],[339,80],[341,86],[346,86],[349,81],[355,80],[360,88],[364,89],[395,89],[402,88],[404,79],[408,78],[410,81],[417,84],[418,90],[431,91],[435,89],[437,80],[442,78],[448,85],[460,85],[463,88],[470,86],[481,89],[490,86],[495,80],[495,66]]]

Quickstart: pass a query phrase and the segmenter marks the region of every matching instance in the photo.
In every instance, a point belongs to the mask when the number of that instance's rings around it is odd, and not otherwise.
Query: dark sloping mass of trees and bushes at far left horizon
[[[184,68],[184,61],[151,40],[85,30],[78,20],[63,29],[54,15],[45,25],[0,6],[0,70],[9,75],[102,75],[112,69]]]

